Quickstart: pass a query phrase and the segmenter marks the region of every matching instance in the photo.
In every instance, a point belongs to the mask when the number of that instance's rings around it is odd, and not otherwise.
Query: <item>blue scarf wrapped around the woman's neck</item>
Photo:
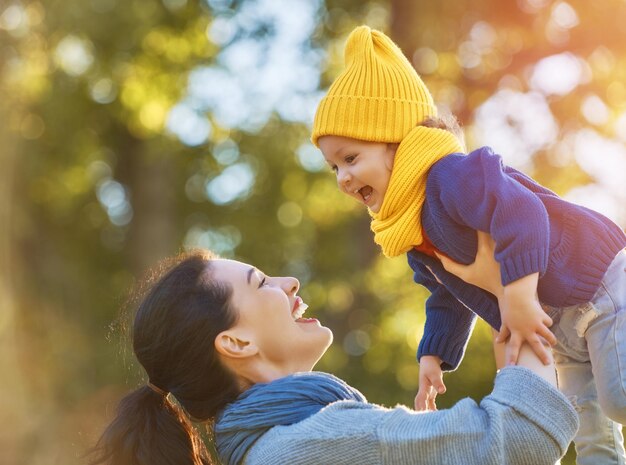
[[[228,404],[215,422],[222,463],[239,465],[248,449],[270,428],[292,425],[338,400],[367,402],[339,378],[322,372],[295,373],[255,384]]]

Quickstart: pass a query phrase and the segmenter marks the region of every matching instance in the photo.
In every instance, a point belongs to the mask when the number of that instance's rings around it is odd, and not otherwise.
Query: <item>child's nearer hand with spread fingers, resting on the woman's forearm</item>
[[[543,340],[554,345],[556,337],[549,329],[552,319],[543,311],[536,298],[537,277],[537,273],[534,273],[505,286],[499,301],[502,327],[496,342],[508,339],[505,351],[507,365],[517,363],[524,342],[530,345],[545,365],[550,363],[551,357]]]

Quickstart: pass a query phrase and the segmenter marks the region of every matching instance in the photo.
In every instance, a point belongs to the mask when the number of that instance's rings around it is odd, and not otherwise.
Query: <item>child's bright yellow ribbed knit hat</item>
[[[367,26],[350,33],[346,69],[322,99],[311,142],[325,135],[400,142],[418,123],[437,115],[430,92],[402,50]]]

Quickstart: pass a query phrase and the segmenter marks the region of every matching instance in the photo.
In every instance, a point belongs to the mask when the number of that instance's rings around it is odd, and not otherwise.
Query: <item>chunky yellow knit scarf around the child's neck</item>
[[[450,153],[463,152],[457,137],[444,129],[417,126],[400,142],[383,204],[370,210],[374,242],[395,257],[423,241],[421,214],[430,167]]]

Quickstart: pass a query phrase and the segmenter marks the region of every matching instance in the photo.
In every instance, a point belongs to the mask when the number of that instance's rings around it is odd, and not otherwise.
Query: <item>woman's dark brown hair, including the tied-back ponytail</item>
[[[133,350],[150,382],[124,397],[92,451],[92,464],[206,465],[207,449],[189,417],[210,421],[239,394],[214,340],[236,323],[232,289],[215,279],[206,251],[166,266],[135,315]]]

